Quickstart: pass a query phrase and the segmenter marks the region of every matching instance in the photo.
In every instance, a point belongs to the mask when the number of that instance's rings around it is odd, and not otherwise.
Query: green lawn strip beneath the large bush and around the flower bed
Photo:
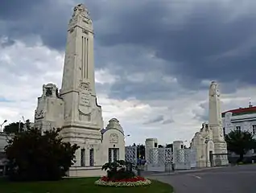
[[[152,180],[147,187],[97,187],[98,178],[63,179],[57,182],[11,183],[0,179],[1,193],[171,193],[172,187],[166,183]]]

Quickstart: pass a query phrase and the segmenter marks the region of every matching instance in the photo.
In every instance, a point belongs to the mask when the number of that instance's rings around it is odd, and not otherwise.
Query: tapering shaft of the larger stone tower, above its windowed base
[[[64,127],[100,130],[94,80],[93,23],[84,5],[75,6],[68,24],[68,39],[60,97],[64,99]]]

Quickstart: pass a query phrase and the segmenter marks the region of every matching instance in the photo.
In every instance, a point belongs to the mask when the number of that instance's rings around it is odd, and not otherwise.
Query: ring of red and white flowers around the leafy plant
[[[144,179],[142,177],[134,177],[132,179],[120,179],[120,180],[109,180],[108,177],[104,176],[95,182],[98,186],[106,187],[140,187],[147,186],[151,184],[149,179]]]

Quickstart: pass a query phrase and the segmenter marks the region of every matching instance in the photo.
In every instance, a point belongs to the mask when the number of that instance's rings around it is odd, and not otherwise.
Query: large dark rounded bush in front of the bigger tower
[[[62,142],[60,129],[41,134],[40,129],[28,128],[18,133],[6,146],[8,172],[11,180],[58,180],[74,163],[79,148]]]

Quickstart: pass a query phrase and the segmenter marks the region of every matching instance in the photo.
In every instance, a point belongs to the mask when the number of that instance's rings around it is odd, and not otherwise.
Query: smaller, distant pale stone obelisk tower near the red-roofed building
[[[221,124],[221,99],[218,84],[213,81],[209,88],[209,127],[213,130],[215,165],[226,165],[227,144]]]

